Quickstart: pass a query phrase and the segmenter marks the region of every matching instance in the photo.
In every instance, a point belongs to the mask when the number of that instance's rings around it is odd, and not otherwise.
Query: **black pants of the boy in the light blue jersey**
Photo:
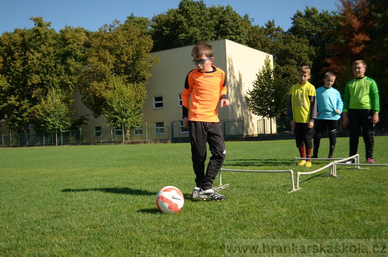
[[[337,142],[337,120],[319,120],[315,122],[315,134],[314,134],[314,157],[318,157],[318,150],[319,150],[319,144],[320,139],[322,137],[322,134],[326,131],[329,133],[329,156],[333,157],[334,148],[336,147]]]

